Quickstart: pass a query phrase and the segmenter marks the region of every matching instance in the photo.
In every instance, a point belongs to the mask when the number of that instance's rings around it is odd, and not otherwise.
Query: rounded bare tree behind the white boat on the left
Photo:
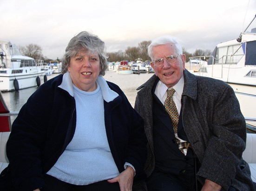
[[[20,52],[27,56],[27,57],[33,57],[34,59],[42,59],[43,54],[42,54],[42,48],[39,45],[34,45],[34,44],[29,44],[20,47]]]

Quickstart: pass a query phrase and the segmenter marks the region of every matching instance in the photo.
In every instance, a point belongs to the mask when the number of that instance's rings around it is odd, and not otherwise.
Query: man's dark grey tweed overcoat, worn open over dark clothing
[[[148,140],[145,172],[155,167],[153,146],[152,76],[137,90],[135,110],[144,119]],[[210,179],[228,190],[253,190],[249,165],[242,159],[246,142],[246,124],[233,89],[227,83],[209,77],[195,76],[184,70],[182,94],[184,131],[200,162],[197,179]]]

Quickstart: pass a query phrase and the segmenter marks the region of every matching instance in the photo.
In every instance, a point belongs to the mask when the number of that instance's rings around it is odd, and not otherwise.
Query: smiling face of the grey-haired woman
[[[81,49],[77,56],[71,57],[67,70],[72,83],[83,91],[93,91],[97,88],[96,80],[100,72],[98,52]]]

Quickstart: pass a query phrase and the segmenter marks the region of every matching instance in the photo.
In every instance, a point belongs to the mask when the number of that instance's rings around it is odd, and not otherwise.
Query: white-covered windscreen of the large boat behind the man
[[[230,45],[217,48],[215,64],[237,64],[244,56],[243,46]]]

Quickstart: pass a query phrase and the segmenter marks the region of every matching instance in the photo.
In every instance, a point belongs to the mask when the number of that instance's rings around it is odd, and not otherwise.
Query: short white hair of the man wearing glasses
[[[158,46],[158,45],[167,45],[167,44],[173,44],[175,46],[175,53],[177,55],[181,55],[183,54],[183,51],[182,51],[182,48],[181,48],[181,45],[179,44],[179,42],[177,41],[177,39],[175,37],[172,37],[172,36],[163,36],[163,37],[159,37],[155,40],[153,40],[151,42],[151,44],[148,46],[148,55],[149,57],[151,57],[151,60],[153,61],[153,55],[152,55],[152,48],[154,46]],[[176,55],[176,56],[177,56]],[[170,56],[170,55],[169,55]]]

